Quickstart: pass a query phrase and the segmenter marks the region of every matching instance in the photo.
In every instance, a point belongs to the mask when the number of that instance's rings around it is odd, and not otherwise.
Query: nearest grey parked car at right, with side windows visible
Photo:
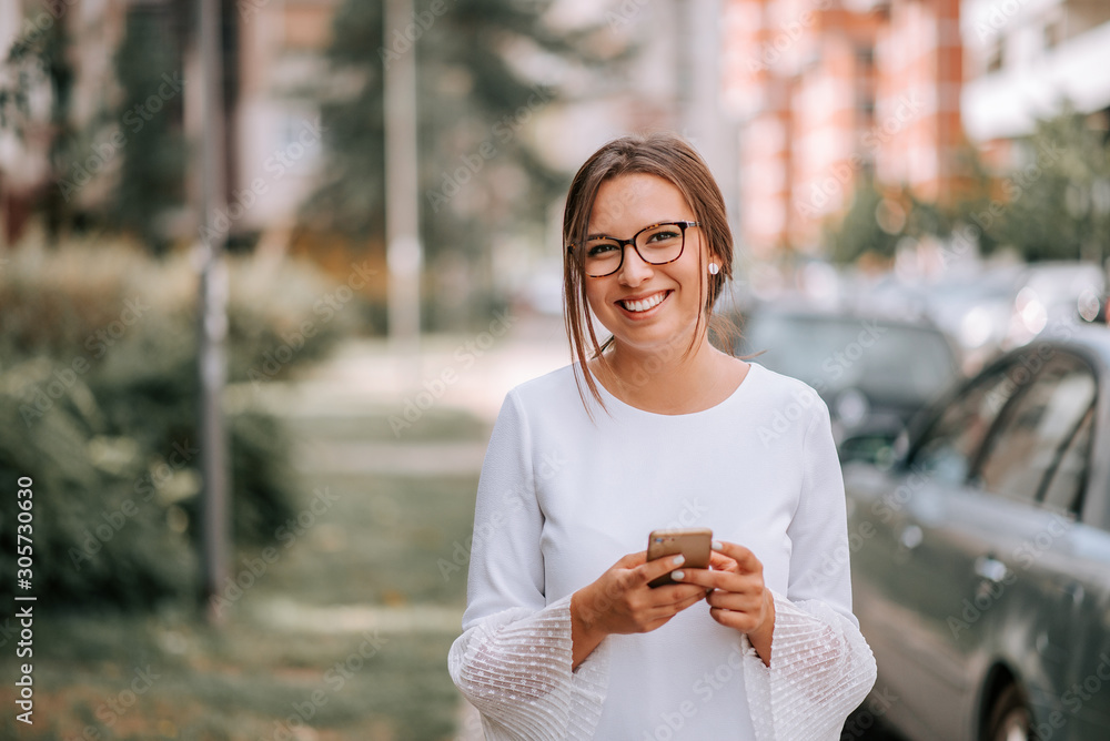
[[[1052,334],[930,407],[892,464],[845,461],[854,608],[909,739],[1110,739],[1110,331]]]

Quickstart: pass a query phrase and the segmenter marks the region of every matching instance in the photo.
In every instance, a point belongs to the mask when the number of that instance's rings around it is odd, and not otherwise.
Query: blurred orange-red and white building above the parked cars
[[[725,34],[754,256],[818,254],[864,179],[944,197],[962,141],[959,0],[731,0]]]

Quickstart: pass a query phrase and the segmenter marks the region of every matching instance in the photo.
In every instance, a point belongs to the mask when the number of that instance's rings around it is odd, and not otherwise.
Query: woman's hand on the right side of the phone
[[[720,625],[747,633],[751,648],[769,667],[775,598],[764,585],[763,564],[744,546],[715,540],[709,569],[685,569],[675,580],[712,589],[705,600],[709,615]]]

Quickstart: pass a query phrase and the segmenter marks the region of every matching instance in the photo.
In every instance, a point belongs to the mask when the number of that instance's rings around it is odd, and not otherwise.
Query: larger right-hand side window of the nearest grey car
[[[1090,369],[1078,359],[1052,358],[1007,407],[988,440],[978,476],[983,488],[1036,500],[1090,409],[1096,388]]]

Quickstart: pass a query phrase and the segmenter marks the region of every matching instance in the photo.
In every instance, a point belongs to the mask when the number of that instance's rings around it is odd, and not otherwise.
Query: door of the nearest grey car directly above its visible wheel
[[[1037,362],[1039,361],[1039,362]],[[945,738],[973,738],[988,669],[996,658],[1030,677],[1059,676],[1069,662],[1078,581],[1067,575],[1074,516],[1048,506],[1047,487],[1089,425],[1097,382],[1058,348],[1030,348],[1003,370],[1012,389],[965,480],[934,481],[910,507],[925,598],[917,608]],[[922,463],[924,461],[920,461]],[[1062,619],[1061,619],[1062,616]]]

